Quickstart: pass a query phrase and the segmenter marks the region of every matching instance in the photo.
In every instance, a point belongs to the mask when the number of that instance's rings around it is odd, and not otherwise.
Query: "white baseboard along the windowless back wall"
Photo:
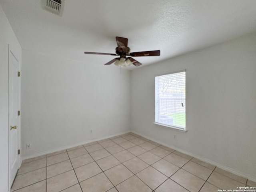
[[[38,157],[38,156],[41,156],[41,155],[46,155],[46,154],[49,154],[49,153],[54,153],[54,152],[57,152],[57,151],[66,150],[66,149],[69,149],[69,148],[72,148],[72,147],[84,145],[84,144],[91,143],[91,142],[94,142],[94,141],[99,141],[99,140],[103,140],[103,139],[108,139],[108,138],[111,138],[111,137],[119,136],[119,135],[126,134],[126,133],[130,133],[130,132],[131,132],[131,131],[126,131],[126,132],[122,132],[122,133],[119,133],[119,134],[114,134],[114,135],[107,136],[107,137],[103,137],[103,138],[97,138],[97,139],[87,140],[87,141],[84,141],[84,142],[80,142],[80,143],[76,143],[76,144],[72,144],[72,145],[67,145],[67,146],[63,146],[63,147],[60,147],[60,148],[55,148],[55,149],[53,149],[53,150],[44,151],[44,152],[37,153],[37,154],[33,154],[33,155],[30,155],[30,156],[24,156],[24,157],[22,157],[22,161],[23,161],[23,160],[26,160],[26,159]],[[21,161],[21,162],[22,162],[22,161]],[[21,162],[20,162],[20,164],[21,164]]]

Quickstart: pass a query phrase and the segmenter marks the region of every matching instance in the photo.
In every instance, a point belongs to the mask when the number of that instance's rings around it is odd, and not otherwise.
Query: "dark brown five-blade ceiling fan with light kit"
[[[116,37],[116,54],[112,53],[97,53],[97,52],[84,52],[84,54],[97,54],[97,55],[113,55],[113,56],[120,56],[117,58],[112,59],[110,62],[107,62],[105,65],[110,65],[114,63],[116,66],[126,67],[130,66],[131,64],[140,66],[141,63],[136,61],[132,57],[142,57],[142,56],[160,56],[160,50],[155,51],[142,51],[142,52],[132,52],[130,53],[130,48],[128,45],[128,39],[123,37]],[[132,57],[126,57],[132,56]]]

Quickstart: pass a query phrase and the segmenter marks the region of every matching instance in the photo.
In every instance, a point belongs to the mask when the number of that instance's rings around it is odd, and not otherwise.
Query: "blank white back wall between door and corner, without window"
[[[24,49],[22,59],[22,158],[130,130],[130,71]]]

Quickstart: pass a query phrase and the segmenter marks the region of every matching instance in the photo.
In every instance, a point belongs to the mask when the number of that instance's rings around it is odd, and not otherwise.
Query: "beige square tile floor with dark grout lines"
[[[13,192],[217,192],[255,182],[133,133],[24,160]]]

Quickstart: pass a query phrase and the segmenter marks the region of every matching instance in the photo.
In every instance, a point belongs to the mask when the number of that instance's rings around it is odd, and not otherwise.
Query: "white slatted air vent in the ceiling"
[[[46,10],[49,10],[52,13],[62,15],[64,8],[64,0],[42,0],[43,6]]]

